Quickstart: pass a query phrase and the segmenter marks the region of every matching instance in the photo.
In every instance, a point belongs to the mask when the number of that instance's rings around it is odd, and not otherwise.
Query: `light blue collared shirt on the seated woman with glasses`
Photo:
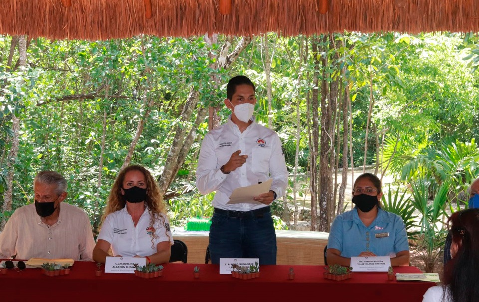
[[[378,208],[378,215],[369,227],[359,219],[356,207],[334,219],[328,239],[328,249],[341,252],[342,257],[356,257],[362,252],[376,256],[395,257],[409,250],[404,222],[396,214]]]

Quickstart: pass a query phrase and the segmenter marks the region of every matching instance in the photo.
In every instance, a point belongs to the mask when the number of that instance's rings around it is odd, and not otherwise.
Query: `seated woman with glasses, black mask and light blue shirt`
[[[392,266],[409,265],[408,236],[396,214],[381,209],[381,181],[372,173],[354,182],[354,209],[334,219],[328,239],[328,264],[351,265],[351,257],[390,256]]]

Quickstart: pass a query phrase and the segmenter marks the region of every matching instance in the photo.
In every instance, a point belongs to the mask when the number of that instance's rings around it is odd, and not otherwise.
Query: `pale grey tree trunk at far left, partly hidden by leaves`
[[[18,53],[19,53],[19,58],[18,58],[18,63],[16,65],[20,67],[25,67],[26,66],[26,36],[18,36],[18,37],[13,37],[12,38],[12,44],[14,43],[13,40],[18,41]],[[10,47],[10,55],[8,56],[13,57],[12,52],[15,51],[15,47]],[[3,195],[3,206],[2,206],[2,212],[5,211],[11,211],[11,206],[12,206],[12,198],[13,198],[13,179],[15,177],[15,161],[18,157],[18,150],[19,150],[19,144],[20,144],[20,118],[16,116],[16,114],[12,114],[12,138],[11,138],[11,147],[10,151],[8,151],[8,156],[7,156],[7,176],[6,176],[6,183],[7,183],[7,190],[5,191],[5,194]],[[6,219],[2,219],[1,225],[0,225],[0,231],[3,230],[6,224]]]

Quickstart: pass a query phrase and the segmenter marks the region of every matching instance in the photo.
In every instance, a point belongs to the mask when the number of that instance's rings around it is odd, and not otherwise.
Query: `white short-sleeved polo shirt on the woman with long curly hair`
[[[125,206],[106,216],[98,240],[102,239],[110,243],[115,256],[150,256],[157,252],[156,246],[160,242],[169,241],[170,245],[173,245],[168,217],[164,214],[156,216],[154,225],[150,225],[150,212],[146,208],[135,227]],[[153,239],[153,244],[150,235],[152,232],[158,236]]]

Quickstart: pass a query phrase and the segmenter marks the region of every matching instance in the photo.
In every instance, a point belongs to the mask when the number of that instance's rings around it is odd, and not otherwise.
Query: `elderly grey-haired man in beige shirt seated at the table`
[[[90,220],[80,208],[62,203],[67,187],[56,172],[36,175],[35,203],[11,215],[0,233],[0,258],[92,260],[95,241]]]

